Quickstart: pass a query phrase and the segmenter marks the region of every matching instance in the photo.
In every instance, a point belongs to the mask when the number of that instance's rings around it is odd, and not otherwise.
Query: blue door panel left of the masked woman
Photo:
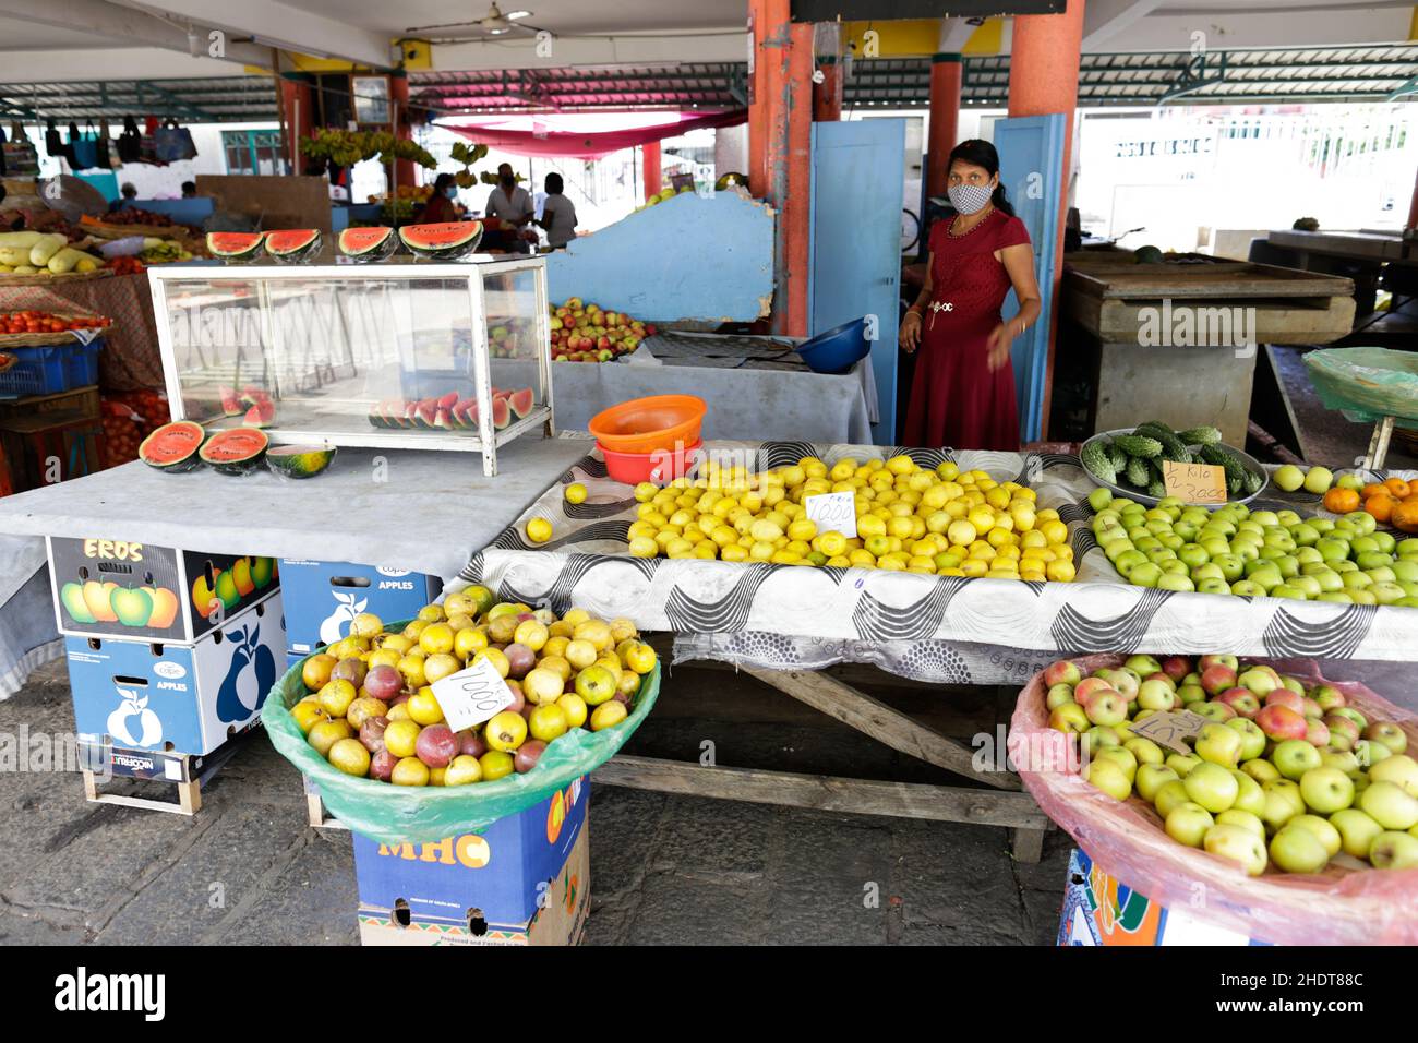
[[[906,121],[813,123],[813,230],[808,335],[868,319],[881,421],[872,440],[896,440],[896,326]]]

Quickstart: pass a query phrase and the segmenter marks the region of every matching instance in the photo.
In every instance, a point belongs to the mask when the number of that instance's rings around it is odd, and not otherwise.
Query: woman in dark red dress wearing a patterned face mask
[[[900,324],[902,349],[920,349],[906,444],[1018,450],[1010,345],[1039,315],[1029,233],[1004,197],[990,142],[951,150],[947,193],[956,216],[930,230],[926,285]],[[1011,287],[1020,311],[1005,322]]]

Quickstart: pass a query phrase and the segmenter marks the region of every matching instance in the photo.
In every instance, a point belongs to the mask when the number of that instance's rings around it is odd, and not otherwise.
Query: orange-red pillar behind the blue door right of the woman
[[[1010,115],[1039,116],[1062,112],[1064,169],[1059,184],[1059,231],[1054,282],[1041,287],[1055,302],[1049,329],[1049,363],[1044,385],[1044,436],[1049,430],[1054,394],[1054,355],[1058,343],[1059,287],[1064,278],[1064,221],[1068,217],[1068,173],[1073,156],[1073,114],[1078,108],[1078,64],[1083,44],[1083,1],[1068,0],[1062,14],[1021,14],[1014,20],[1010,51]]]

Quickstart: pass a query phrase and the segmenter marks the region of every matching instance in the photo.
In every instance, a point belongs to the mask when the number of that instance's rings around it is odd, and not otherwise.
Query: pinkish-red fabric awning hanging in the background
[[[596,114],[604,119],[603,114]],[[600,159],[621,149],[657,142],[664,138],[676,138],[689,131],[699,131],[712,126],[736,126],[749,119],[747,109],[710,114],[627,114],[628,119],[647,119],[669,116],[661,122],[644,126],[627,126],[614,131],[576,132],[570,129],[556,129],[556,125],[577,122],[576,114],[554,114],[547,116],[488,116],[482,122],[438,121],[440,126],[455,131],[465,138],[510,152],[515,156],[542,156],[549,159]],[[526,125],[530,121],[536,129],[519,129],[516,125]]]

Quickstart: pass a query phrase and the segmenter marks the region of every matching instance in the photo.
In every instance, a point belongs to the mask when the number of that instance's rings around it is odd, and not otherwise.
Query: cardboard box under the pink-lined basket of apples
[[[1268,945],[1215,924],[1204,910],[1167,908],[1116,880],[1073,849],[1059,918],[1059,945]]]

